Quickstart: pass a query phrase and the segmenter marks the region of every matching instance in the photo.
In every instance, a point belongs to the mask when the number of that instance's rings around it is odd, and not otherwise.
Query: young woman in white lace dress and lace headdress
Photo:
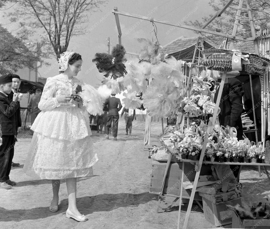
[[[72,98],[80,82],[82,57],[65,52],[59,58],[60,73],[49,77],[38,104],[41,112],[31,129],[34,131],[24,171],[36,179],[52,180],[50,211],[58,211],[60,179],[66,179],[69,206],[66,217],[86,221],[76,206],[76,177],[93,175],[97,162],[89,115],[82,102]],[[59,71],[60,71],[59,70]]]

